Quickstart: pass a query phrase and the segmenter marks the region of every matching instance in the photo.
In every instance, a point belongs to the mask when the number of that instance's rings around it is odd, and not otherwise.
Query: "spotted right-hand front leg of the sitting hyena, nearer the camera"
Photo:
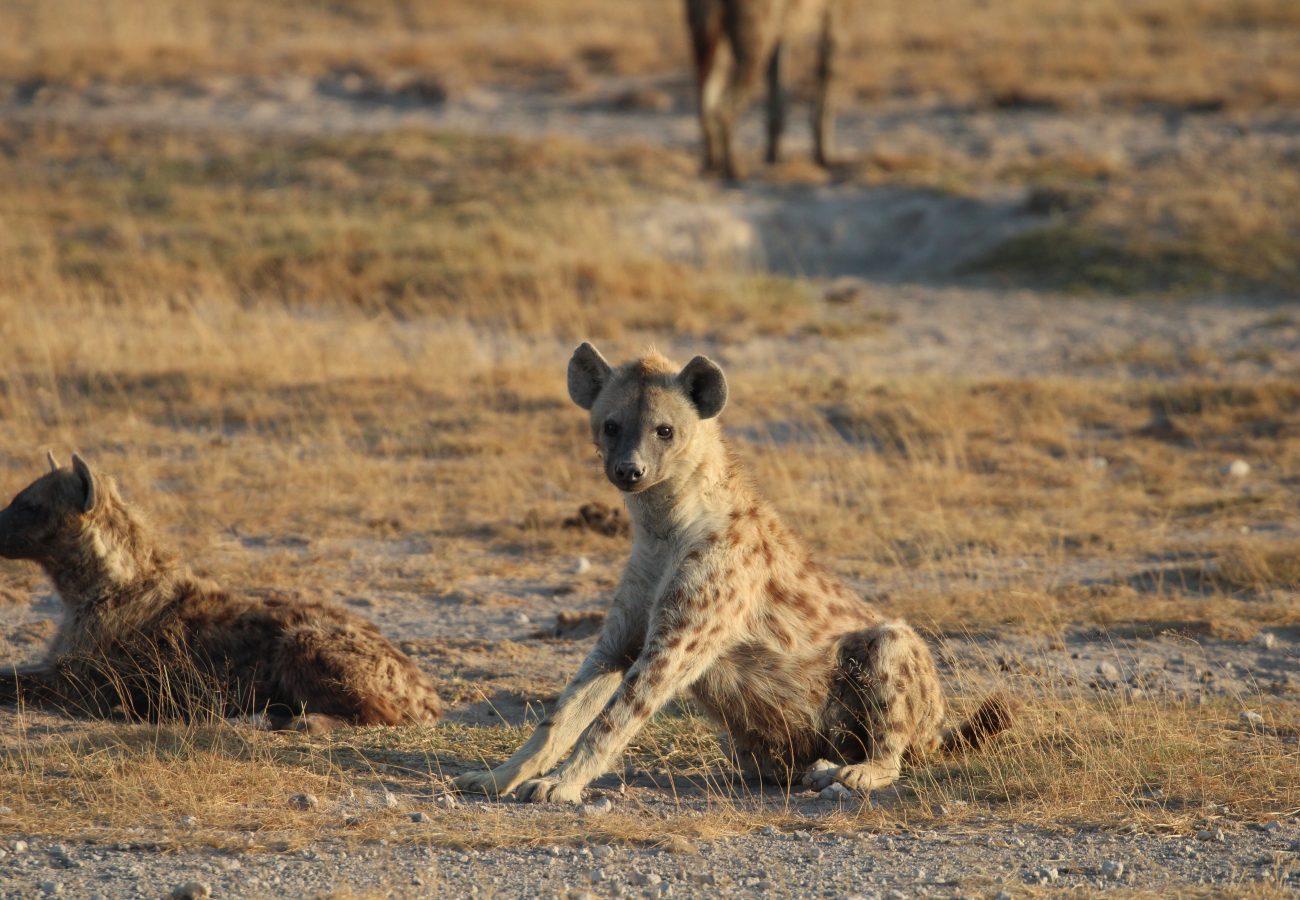
[[[685,691],[718,658],[701,629],[676,631],[651,640],[623,678],[619,693],[592,723],[573,756],[550,778],[524,782],[520,800],[580,802],[582,788],[608,771],[650,717]]]

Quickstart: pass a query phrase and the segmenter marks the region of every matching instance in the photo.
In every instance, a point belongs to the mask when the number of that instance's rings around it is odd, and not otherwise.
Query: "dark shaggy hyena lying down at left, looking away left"
[[[0,702],[131,718],[264,714],[276,727],[433,722],[433,685],[378,629],[294,597],[239,597],[160,551],[81,457],[0,511],[0,557],[31,559],[65,616],[43,665],[0,674]]]

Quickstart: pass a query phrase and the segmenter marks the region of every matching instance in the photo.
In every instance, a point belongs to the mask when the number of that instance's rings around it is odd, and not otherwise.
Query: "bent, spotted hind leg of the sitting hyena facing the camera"
[[[827,705],[827,734],[848,765],[809,771],[820,789],[831,782],[858,791],[890,784],[909,749],[933,749],[944,718],[939,672],[926,641],[901,622],[844,637]]]

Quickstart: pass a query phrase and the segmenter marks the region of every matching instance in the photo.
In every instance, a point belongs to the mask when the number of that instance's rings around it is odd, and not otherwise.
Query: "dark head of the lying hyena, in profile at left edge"
[[[83,516],[95,510],[98,490],[90,467],[73,454],[72,468],[60,468],[49,454],[49,471],[29,484],[0,510],[0,557],[51,559],[77,541]]]

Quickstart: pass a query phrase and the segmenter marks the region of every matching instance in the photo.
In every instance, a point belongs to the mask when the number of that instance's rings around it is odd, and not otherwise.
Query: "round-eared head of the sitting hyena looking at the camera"
[[[614,368],[590,343],[573,351],[568,389],[592,412],[606,477],[628,493],[693,471],[727,404],[727,378],[705,356],[681,371],[655,352]]]

